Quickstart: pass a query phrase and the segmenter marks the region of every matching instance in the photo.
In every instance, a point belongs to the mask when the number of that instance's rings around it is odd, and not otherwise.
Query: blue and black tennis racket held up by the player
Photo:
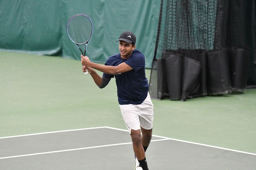
[[[90,41],[93,32],[91,19],[85,14],[75,14],[68,20],[67,32],[70,40],[77,45],[82,55],[85,56],[87,44]],[[84,44],[85,52],[83,53],[79,46]],[[88,74],[87,69],[85,74]]]

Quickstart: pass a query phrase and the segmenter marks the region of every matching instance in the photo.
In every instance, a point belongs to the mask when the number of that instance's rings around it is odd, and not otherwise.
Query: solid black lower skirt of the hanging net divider
[[[248,49],[243,48],[165,50],[153,66],[156,78],[150,81],[151,97],[186,101],[244,91],[248,59]]]

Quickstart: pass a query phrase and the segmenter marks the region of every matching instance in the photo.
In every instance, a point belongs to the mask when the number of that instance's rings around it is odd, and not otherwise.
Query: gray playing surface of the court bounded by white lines
[[[153,136],[150,170],[255,170],[256,154]],[[133,170],[126,130],[97,127],[0,138],[1,170]]]

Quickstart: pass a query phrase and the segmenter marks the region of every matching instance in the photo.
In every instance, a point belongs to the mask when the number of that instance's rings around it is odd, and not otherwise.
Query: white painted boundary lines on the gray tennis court
[[[108,129],[120,130],[120,131],[128,132],[128,130],[118,129],[118,128],[114,128],[114,127],[92,127],[92,128],[84,128],[84,129],[61,130],[61,131],[44,132],[44,133],[33,133],[33,134],[18,135],[18,136],[7,136],[7,137],[1,137],[0,139],[12,138],[12,137],[22,137],[22,136],[32,136],[32,135],[40,135],[40,134],[48,134],[48,133],[70,132],[70,131],[76,131],[76,130],[100,129],[100,128],[108,128]],[[255,153],[250,153],[250,152],[243,152],[243,151],[238,151],[238,150],[234,150],[234,149],[227,149],[227,148],[222,148],[222,147],[218,147],[218,146],[205,145],[205,144],[201,144],[201,143],[189,142],[189,141],[185,141],[185,140],[178,140],[178,139],[173,139],[173,138],[168,138],[168,137],[163,137],[163,136],[157,136],[157,135],[152,135],[152,136],[163,138],[163,139],[151,140],[151,142],[162,141],[162,140],[174,140],[174,141],[179,141],[179,142],[184,142],[184,143],[191,143],[191,144],[195,144],[195,145],[207,146],[207,147],[223,149],[223,150],[228,150],[228,151],[234,151],[234,152],[239,152],[239,153],[245,153],[245,154],[250,154],[250,155],[255,155],[256,156]],[[91,147],[85,147],[85,148],[66,149],[66,150],[51,151],[51,152],[41,152],[41,153],[33,153],[33,154],[26,154],[26,155],[1,157],[0,159],[16,158],[16,157],[23,157],[23,156],[33,156],[33,155],[42,155],[42,154],[48,154],[48,153],[67,152],[67,151],[74,151],[74,150],[92,149],[92,148],[100,148],[100,147],[107,147],[107,146],[117,146],[117,145],[126,145],[126,144],[132,144],[132,143],[131,142],[128,142],[128,143],[117,143],[117,144],[111,144],[111,145],[101,145],[101,146],[91,146]]]

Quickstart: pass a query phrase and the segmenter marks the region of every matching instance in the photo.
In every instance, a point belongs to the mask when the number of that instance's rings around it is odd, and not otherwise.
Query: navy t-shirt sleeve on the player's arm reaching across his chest
[[[130,59],[125,61],[125,63],[134,69],[135,72],[137,72],[139,69],[145,66],[145,57],[141,53],[135,53]]]

